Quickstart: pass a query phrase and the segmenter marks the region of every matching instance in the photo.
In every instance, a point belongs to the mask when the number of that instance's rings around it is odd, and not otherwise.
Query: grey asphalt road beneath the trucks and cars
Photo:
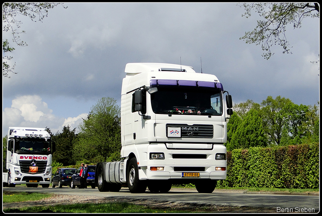
[[[27,188],[17,186],[15,188],[4,187],[10,191],[30,191],[57,193],[67,195],[89,195],[99,197],[120,197],[120,198],[144,198],[155,200],[176,201],[184,203],[213,204],[217,206],[248,206],[273,208],[276,212],[315,212],[319,211],[319,195],[288,195],[288,194],[263,194],[246,193],[246,190],[221,190],[214,192],[198,193],[196,189],[172,188],[168,193],[145,193],[133,194],[127,188],[119,192],[100,192],[97,188],[79,189],[63,186],[62,188]]]

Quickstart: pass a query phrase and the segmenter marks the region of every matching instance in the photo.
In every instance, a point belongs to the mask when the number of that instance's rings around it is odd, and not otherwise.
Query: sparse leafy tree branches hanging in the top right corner
[[[293,24],[294,29],[301,27],[306,17],[319,18],[319,5],[317,3],[244,3],[246,18],[251,16],[253,10],[264,20],[258,20],[252,32],[246,32],[243,39],[246,43],[261,45],[263,57],[269,59],[273,45],[280,45],[283,53],[290,53],[289,42],[286,38],[286,26]]]

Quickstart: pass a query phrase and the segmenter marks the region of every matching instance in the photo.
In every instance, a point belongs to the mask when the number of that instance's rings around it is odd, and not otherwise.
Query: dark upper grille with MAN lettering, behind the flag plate
[[[213,138],[213,125],[167,124],[166,127],[167,130],[169,127],[180,127],[182,138]]]

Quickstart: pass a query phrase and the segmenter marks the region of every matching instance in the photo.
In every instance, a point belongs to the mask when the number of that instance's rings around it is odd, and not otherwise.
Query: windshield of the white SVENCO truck
[[[17,138],[15,139],[16,153],[49,154],[50,141],[39,138]]]

